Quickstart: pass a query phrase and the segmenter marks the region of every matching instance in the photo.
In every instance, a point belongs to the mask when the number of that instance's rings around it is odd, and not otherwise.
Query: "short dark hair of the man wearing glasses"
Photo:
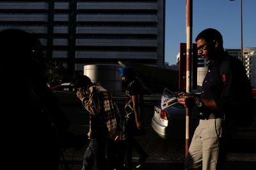
[[[215,40],[219,43],[220,47],[223,47],[223,38],[221,33],[212,28],[205,29],[204,31],[200,32],[198,36],[196,36],[195,41],[198,41],[198,39],[204,39],[207,43]]]

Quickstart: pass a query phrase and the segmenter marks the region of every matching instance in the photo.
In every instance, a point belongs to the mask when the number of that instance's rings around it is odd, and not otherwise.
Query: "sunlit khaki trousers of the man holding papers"
[[[186,169],[214,170],[220,164],[223,119],[200,120],[185,159]],[[222,162],[222,161],[221,161]]]

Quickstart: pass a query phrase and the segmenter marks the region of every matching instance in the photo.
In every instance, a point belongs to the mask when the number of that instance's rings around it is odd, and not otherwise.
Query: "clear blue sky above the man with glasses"
[[[241,0],[194,0],[192,41],[212,27],[224,48],[241,48]],[[243,0],[243,48],[256,47],[256,0]],[[186,0],[166,0],[165,61],[176,64],[180,43],[186,43]]]

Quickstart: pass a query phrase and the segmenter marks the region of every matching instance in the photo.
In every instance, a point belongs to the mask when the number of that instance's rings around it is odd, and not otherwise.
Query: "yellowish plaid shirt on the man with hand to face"
[[[83,106],[90,112],[89,138],[105,136],[115,138],[116,127],[120,120],[120,111],[113,101],[111,94],[101,87],[100,83],[89,85],[86,90],[87,97],[83,99]],[[108,131],[105,131],[105,129]]]

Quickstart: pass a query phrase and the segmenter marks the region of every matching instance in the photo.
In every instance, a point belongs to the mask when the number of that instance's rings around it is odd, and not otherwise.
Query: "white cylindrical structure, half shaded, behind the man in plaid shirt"
[[[85,65],[84,75],[88,76],[92,82],[99,81],[102,87],[115,96],[122,92],[122,77],[119,68],[120,66],[115,65]]]

